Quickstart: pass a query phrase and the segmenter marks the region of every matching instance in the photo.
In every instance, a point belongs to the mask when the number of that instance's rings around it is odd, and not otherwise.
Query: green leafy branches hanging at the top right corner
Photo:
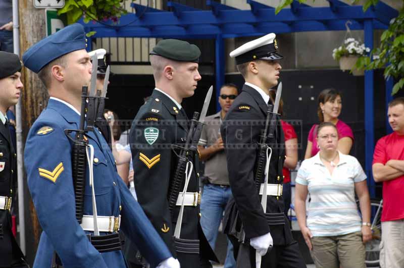
[[[380,37],[380,46],[375,47],[370,56],[360,57],[355,68],[365,70],[383,69],[384,78],[393,77],[399,80],[393,86],[392,94],[404,88],[404,0],[403,7],[398,13],[398,17],[390,21],[387,30]],[[276,7],[275,14],[290,5],[293,0],[282,0]],[[298,0],[299,3],[306,3],[307,0]],[[313,0],[314,2],[314,0]],[[351,0],[353,4],[358,4],[360,0]],[[379,0],[366,0],[363,11],[368,10],[372,5],[376,6]]]

